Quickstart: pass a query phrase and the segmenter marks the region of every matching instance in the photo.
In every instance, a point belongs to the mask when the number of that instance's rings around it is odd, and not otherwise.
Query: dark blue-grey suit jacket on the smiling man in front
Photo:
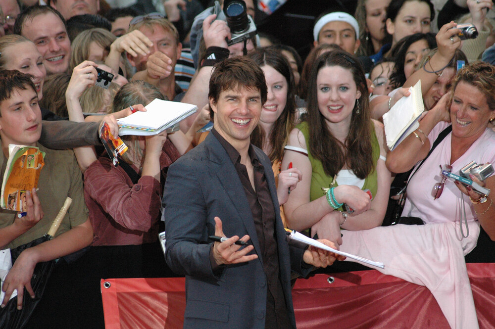
[[[287,243],[271,163],[259,148],[255,147],[255,152],[265,168],[276,210],[280,278],[295,328],[291,267],[303,275],[308,270],[301,268],[303,250]],[[207,237],[215,233],[215,216],[222,220],[226,236],[249,235],[254,252],[261,254],[241,180],[213,134],[170,166],[163,204],[166,261],[172,270],[186,275],[184,328],[264,328],[267,283],[261,257],[225,266],[218,276],[211,269],[212,242]]]

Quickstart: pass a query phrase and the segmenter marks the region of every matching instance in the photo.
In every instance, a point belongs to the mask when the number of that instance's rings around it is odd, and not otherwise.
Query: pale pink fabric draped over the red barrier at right
[[[384,274],[426,286],[451,328],[476,329],[464,254],[476,246],[479,232],[477,221],[469,222],[469,236],[462,239],[458,222],[344,230],[340,249],[383,262],[385,269],[377,270]]]

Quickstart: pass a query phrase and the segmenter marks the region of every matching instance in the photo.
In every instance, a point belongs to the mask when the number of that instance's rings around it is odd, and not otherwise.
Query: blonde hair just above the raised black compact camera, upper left
[[[84,62],[89,57],[91,43],[96,42],[99,47],[110,50],[110,45],[117,39],[111,32],[101,29],[89,29],[81,32],[72,42],[72,55],[70,58],[69,72],[74,67]]]

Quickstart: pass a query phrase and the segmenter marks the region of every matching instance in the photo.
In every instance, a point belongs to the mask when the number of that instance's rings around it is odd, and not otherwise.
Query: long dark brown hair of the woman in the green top
[[[357,90],[361,92],[358,99],[359,114],[356,101],[345,143],[332,135],[318,107],[316,77],[320,69],[326,66],[340,66],[349,70]],[[366,79],[357,58],[342,50],[330,51],[319,56],[308,81],[307,102],[309,151],[315,159],[321,161],[325,174],[333,177],[347,164],[358,178],[366,178],[374,169],[371,149],[371,129],[374,128],[370,117]]]

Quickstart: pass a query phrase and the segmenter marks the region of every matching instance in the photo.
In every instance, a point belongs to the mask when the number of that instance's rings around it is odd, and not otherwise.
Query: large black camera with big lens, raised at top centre
[[[232,34],[232,38],[227,40],[229,46],[256,36],[256,26],[251,16],[247,14],[246,2],[243,0],[225,0],[223,12],[227,17],[227,25]]]

